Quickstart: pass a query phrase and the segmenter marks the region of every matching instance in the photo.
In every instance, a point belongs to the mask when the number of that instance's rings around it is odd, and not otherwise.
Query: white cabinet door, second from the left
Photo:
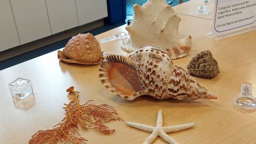
[[[21,44],[51,35],[44,0],[10,0],[10,2]]]

